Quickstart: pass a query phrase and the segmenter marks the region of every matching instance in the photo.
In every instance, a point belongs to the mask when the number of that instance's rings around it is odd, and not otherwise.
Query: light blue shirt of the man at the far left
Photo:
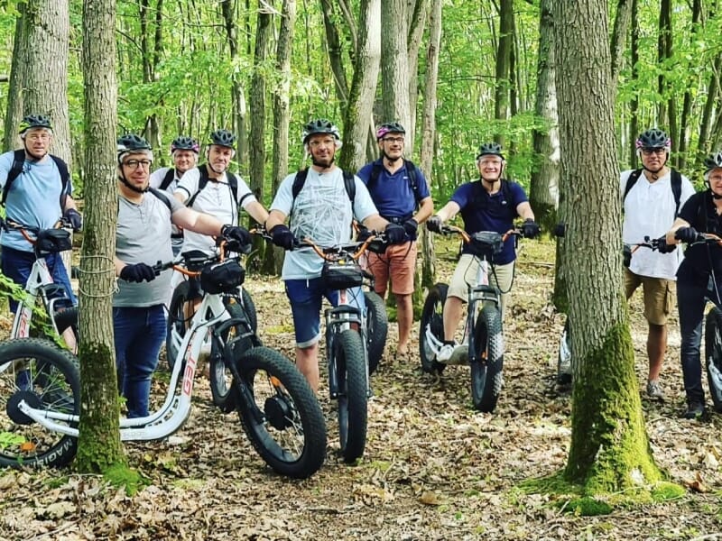
[[[5,189],[7,174],[13,167],[14,151],[0,155],[0,190]],[[68,187],[70,193],[70,187]],[[60,193],[62,180],[60,170],[49,155],[42,160],[25,160],[23,171],[14,179],[5,201],[5,215],[22,225],[49,229],[60,216]],[[22,252],[32,252],[19,231],[3,232],[0,244]]]

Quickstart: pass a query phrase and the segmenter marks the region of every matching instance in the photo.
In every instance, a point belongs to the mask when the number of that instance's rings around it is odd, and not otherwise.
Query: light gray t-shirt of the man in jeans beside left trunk
[[[163,194],[171,203],[172,212],[183,208],[175,197]],[[143,195],[140,204],[118,197],[116,257],[126,263],[154,265],[171,261],[171,209],[151,192]],[[171,294],[171,269],[162,271],[150,282],[134,283],[117,280],[118,290],[113,307],[153,307],[164,304]]]

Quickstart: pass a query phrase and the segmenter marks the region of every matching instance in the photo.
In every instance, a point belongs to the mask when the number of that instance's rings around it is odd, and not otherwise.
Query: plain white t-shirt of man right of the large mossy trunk
[[[625,194],[626,180],[631,174],[632,170],[627,170],[620,175],[619,193],[622,197]],[[692,194],[694,187],[690,179],[682,175],[680,208]],[[671,173],[654,182],[650,182],[642,173],[622,205],[625,210],[622,239],[625,243],[640,243],[645,236],[656,239],[666,234],[677,211],[671,191]],[[679,247],[671,253],[640,248],[632,254],[629,270],[640,276],[675,280],[681,259],[682,252]]]

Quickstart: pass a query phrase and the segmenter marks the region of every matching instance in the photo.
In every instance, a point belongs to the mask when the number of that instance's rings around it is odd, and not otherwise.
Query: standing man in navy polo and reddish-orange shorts
[[[369,253],[368,268],[375,276],[375,290],[382,298],[391,279],[399,323],[397,353],[408,352],[413,324],[413,275],[416,269],[416,228],[434,211],[429,187],[421,170],[403,159],[406,130],[393,122],[376,130],[381,158],[358,171],[380,215],[403,225],[407,242],[389,246],[384,254]]]

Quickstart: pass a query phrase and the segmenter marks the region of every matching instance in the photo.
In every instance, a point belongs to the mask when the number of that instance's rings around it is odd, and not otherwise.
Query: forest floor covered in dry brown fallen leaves
[[[454,249],[439,252],[446,279]],[[395,358],[391,324],[373,377],[366,454],[356,465],[338,456],[323,368],[329,445],[324,466],[305,481],[266,467],[238,417],[211,406],[201,379],[190,418],[175,437],[125,445],[129,462],[148,481],[133,496],[70,470],[3,472],[0,539],[722,539],[722,416],[678,417],[684,400],[676,316],[662,371],[666,400],[643,394],[642,404],[656,462],[687,493],[580,517],[518,488],[558,472],[569,450],[570,396],[555,385],[563,316],[549,305],[553,252],[551,243],[523,243],[505,317],[504,390],[494,414],[471,408],[467,367],[449,367],[440,380],[421,373],[418,323],[413,353]],[[264,344],[291,356],[282,283],[251,276],[246,287]],[[632,306],[632,334],[643,389],[640,297]],[[162,381],[167,373],[161,371],[159,395]]]

